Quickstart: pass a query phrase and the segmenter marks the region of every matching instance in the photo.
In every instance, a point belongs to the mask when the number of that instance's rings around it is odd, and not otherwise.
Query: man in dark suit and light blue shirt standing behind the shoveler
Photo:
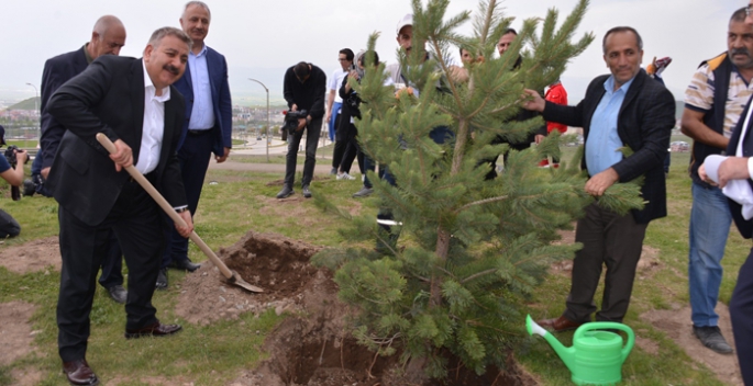
[[[201,1],[189,1],[180,16],[180,26],[193,42],[188,54],[186,75],[175,87],[186,99],[184,135],[178,148],[188,211],[196,214],[201,196],[201,185],[211,154],[214,160],[224,162],[232,145],[233,107],[228,84],[225,57],[204,44],[212,14]],[[175,229],[168,229],[168,238],[157,290],[167,288],[167,268],[193,272],[199,269],[188,259],[188,240]]]

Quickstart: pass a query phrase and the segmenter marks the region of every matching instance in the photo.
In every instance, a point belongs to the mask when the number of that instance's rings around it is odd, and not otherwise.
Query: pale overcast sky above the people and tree
[[[366,47],[368,35],[380,32],[377,52],[383,61],[396,56],[396,26],[411,12],[409,0],[207,0],[211,9],[207,45],[225,56],[233,103],[264,104],[263,88],[269,88],[272,104],[283,101],[283,76],[298,61],[310,61],[328,77],[337,68],[337,52]],[[165,25],[179,27],[184,0],[7,0],[0,23],[0,100],[35,95],[26,83],[40,87],[47,58],[75,50],[91,37],[97,19],[120,18],[128,38],[123,56],[141,57],[152,32]],[[425,3],[425,0],[424,0]],[[529,18],[547,9],[561,11],[564,20],[576,0],[506,0],[506,15],[514,16],[520,29]],[[608,69],[601,54],[601,38],[610,27],[630,25],[644,42],[643,65],[651,58],[669,56],[664,72],[667,88],[682,100],[696,67],[704,59],[727,50],[727,27],[731,14],[748,0],[591,0],[575,38],[591,32],[596,39],[575,58],[562,77],[569,103],[577,103],[588,82]],[[476,12],[476,0],[452,0],[447,15]],[[472,23],[459,30],[470,35]]]

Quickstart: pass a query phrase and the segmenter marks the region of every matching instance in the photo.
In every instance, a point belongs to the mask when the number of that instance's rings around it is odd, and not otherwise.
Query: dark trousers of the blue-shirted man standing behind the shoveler
[[[209,161],[212,158],[212,145],[214,143],[212,134],[215,129],[218,128],[188,132],[188,134],[186,134],[186,140],[184,140],[178,150],[180,174],[182,177],[184,189],[186,190],[186,201],[188,202],[188,211],[191,212],[191,218],[196,215],[196,211],[199,207],[201,188],[204,183],[204,177],[207,177]],[[163,214],[163,216],[166,224],[166,238],[168,240],[167,248],[162,258],[162,268],[165,268],[171,261],[188,260],[188,239],[178,234],[173,220],[167,215]]]

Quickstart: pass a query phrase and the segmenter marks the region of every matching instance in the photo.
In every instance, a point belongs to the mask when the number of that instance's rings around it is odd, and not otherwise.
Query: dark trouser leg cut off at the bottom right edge
[[[743,383],[753,385],[753,249],[740,268],[730,300],[730,318]]]

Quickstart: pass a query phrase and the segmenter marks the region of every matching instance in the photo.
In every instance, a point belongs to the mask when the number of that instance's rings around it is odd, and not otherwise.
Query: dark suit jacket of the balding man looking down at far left
[[[49,96],[63,86],[63,83],[70,80],[70,78],[81,73],[89,63],[84,53],[86,46],[81,48],[58,55],[52,59],[47,59],[44,64],[44,71],[42,72],[42,103],[40,111],[42,112],[41,127],[42,133],[49,132],[48,135],[43,136],[40,141],[40,152],[37,157],[42,157],[42,168],[48,168],[53,164],[53,158],[57,151],[57,146],[63,139],[65,127],[60,125],[54,116],[47,111],[47,102]]]

